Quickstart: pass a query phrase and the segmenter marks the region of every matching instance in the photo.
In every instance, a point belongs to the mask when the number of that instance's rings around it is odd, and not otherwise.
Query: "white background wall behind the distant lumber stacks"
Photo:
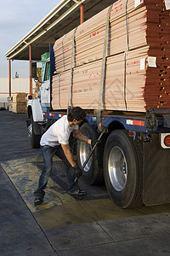
[[[33,90],[36,87],[35,82],[32,80]],[[0,102],[7,102],[8,97],[8,79],[0,78]],[[15,92],[30,92],[30,79],[11,79],[11,96]]]

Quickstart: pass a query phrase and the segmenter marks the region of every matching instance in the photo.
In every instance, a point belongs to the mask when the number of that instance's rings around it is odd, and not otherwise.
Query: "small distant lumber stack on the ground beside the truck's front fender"
[[[25,92],[17,92],[13,95],[13,108],[14,113],[26,113],[26,98],[27,94]]]

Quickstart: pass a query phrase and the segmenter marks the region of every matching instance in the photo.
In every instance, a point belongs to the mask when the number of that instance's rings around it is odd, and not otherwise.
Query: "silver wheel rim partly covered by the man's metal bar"
[[[87,160],[88,154],[90,152],[90,145],[88,143],[80,143],[80,162],[81,165]],[[84,172],[88,172],[92,166],[93,157],[88,160],[87,165],[84,167]]]

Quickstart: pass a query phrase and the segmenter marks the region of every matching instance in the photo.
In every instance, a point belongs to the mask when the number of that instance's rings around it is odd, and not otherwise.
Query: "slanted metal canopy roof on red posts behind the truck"
[[[31,59],[40,61],[41,55],[49,50],[49,44],[54,44],[57,38],[71,31],[80,24],[80,7],[84,5],[84,21],[105,9],[114,0],[62,0],[42,19],[31,32],[9,49],[5,57],[11,60],[29,60],[31,44]]]

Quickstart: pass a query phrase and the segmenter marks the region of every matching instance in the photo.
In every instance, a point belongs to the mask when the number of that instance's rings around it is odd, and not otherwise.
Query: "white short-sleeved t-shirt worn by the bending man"
[[[69,144],[69,137],[71,131],[77,130],[78,125],[69,125],[67,120],[67,115],[57,120],[53,125],[51,125],[41,138],[41,146],[57,146],[59,144]]]

